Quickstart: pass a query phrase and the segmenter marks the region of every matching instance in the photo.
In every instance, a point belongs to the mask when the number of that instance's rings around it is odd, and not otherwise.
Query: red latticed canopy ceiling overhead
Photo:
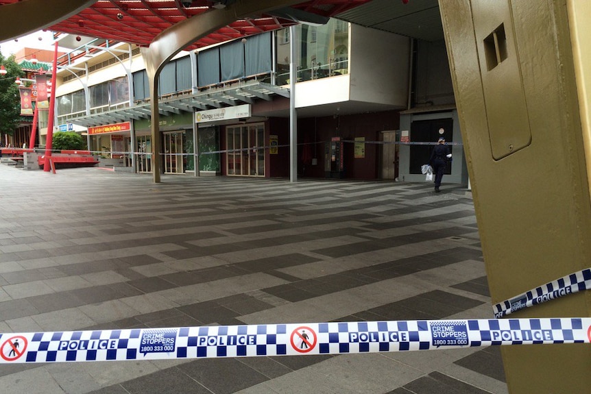
[[[27,0],[0,0],[1,5]],[[51,0],[47,0],[51,1]],[[291,8],[320,16],[334,16],[370,0],[312,0]],[[184,19],[202,14],[215,3],[233,3],[234,0],[99,0],[77,15],[51,25],[47,29],[80,36],[104,38],[147,46],[162,30]],[[183,4],[189,6],[185,6]],[[284,9],[285,10],[285,9]],[[0,8],[1,12],[1,8]],[[242,19],[201,38],[186,49],[250,36],[279,29],[294,23],[285,15],[259,15]]]

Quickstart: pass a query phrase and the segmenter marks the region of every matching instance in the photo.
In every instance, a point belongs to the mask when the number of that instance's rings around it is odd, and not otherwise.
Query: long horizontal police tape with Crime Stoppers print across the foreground
[[[0,363],[405,352],[590,343],[591,318],[354,321],[0,334]]]

